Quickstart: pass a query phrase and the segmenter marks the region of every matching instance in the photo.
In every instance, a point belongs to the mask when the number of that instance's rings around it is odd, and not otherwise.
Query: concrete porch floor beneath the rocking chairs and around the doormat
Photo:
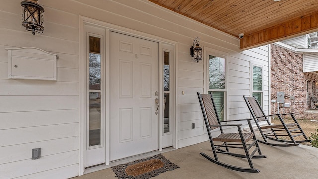
[[[245,173],[216,165],[199,153],[213,156],[210,143],[203,142],[178,150],[162,153],[180,168],[167,171],[154,179],[317,179],[318,148],[300,145],[273,147],[259,144],[264,159],[253,159],[259,173]],[[219,160],[229,164],[248,167],[246,159],[219,154]],[[111,168],[85,174],[72,179],[116,179]],[[151,178],[153,179],[153,178]]]

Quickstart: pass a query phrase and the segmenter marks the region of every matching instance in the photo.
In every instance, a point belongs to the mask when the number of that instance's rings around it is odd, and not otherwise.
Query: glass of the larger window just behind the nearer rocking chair
[[[215,107],[221,121],[225,119],[226,68],[225,58],[209,55],[209,88],[212,92]]]

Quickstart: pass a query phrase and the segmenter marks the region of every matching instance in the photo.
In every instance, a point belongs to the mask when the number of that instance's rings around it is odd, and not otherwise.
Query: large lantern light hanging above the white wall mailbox
[[[23,7],[23,27],[26,27],[27,31],[32,31],[33,35],[35,32],[43,33],[44,8],[38,4],[38,0],[23,0],[21,6]]]

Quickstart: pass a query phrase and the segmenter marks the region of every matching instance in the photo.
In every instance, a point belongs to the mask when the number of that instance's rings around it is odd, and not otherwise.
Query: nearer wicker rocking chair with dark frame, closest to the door
[[[254,168],[253,162],[251,159],[266,158],[266,156],[262,155],[261,153],[256,137],[253,133],[253,129],[251,128],[251,132],[243,133],[241,129],[242,124],[221,124],[222,122],[237,122],[237,121],[245,120],[245,121],[248,121],[248,124],[251,127],[250,120],[252,119],[220,121],[218,114],[216,112],[212,94],[211,93],[200,94],[200,92],[197,92],[197,94],[198,94],[199,102],[201,105],[201,110],[203,113],[205,126],[208,131],[208,136],[210,139],[210,144],[211,144],[214,158],[208,156],[207,154],[203,152],[201,152],[200,154],[206,159],[210,160],[211,162],[221,165],[228,169],[241,171],[241,172],[251,172],[251,173],[259,172],[258,169]],[[238,131],[239,131],[238,133],[223,132],[223,127],[233,127],[233,126],[236,126],[238,128]],[[217,128],[220,129],[221,134],[217,137],[212,137],[211,130],[217,129]],[[251,139],[254,139],[254,140],[251,140]],[[232,153],[229,151],[230,148],[243,149],[245,154]],[[250,150],[252,151],[250,152]],[[259,155],[254,155],[256,152],[258,152]],[[235,157],[246,158],[250,168],[233,166],[227,163],[220,162],[217,156],[218,153],[228,154]]]

